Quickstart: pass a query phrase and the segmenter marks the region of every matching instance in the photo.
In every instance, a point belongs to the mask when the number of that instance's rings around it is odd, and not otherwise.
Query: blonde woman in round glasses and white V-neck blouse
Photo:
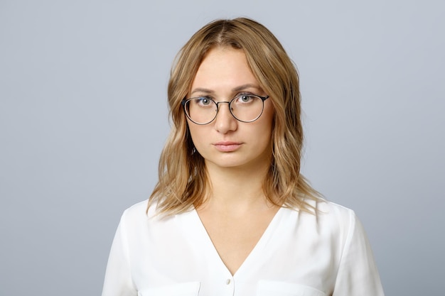
[[[299,78],[267,28],[201,28],[168,103],[159,182],[122,215],[103,296],[383,295],[353,211],[299,173]]]

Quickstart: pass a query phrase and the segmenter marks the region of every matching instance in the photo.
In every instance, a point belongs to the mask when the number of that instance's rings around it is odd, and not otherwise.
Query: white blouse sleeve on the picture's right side
[[[384,296],[370,243],[353,211],[349,225],[333,296]]]

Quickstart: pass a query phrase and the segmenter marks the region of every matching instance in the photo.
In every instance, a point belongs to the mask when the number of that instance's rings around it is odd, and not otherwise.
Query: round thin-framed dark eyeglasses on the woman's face
[[[215,102],[209,97],[183,99],[181,104],[188,119],[195,124],[210,124],[218,115],[220,104],[229,104],[229,110],[235,119],[241,122],[252,122],[259,119],[264,110],[264,101],[269,96],[260,97],[255,94],[240,94],[230,102]]]

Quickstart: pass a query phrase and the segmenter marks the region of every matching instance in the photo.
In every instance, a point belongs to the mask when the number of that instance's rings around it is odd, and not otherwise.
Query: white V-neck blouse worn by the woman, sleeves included
[[[363,226],[338,204],[279,209],[235,275],[195,210],[159,219],[146,205],[122,215],[102,296],[384,295]]]

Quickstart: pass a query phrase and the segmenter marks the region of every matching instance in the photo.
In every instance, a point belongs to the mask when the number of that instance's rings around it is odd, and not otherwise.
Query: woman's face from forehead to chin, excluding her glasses
[[[267,94],[247,65],[242,50],[213,48],[205,56],[192,82],[188,97],[210,97],[215,102],[229,102],[239,94]],[[269,168],[272,159],[271,99],[264,101],[264,111],[256,121],[237,121],[228,104],[220,104],[218,116],[206,125],[188,120],[191,138],[207,168]]]

